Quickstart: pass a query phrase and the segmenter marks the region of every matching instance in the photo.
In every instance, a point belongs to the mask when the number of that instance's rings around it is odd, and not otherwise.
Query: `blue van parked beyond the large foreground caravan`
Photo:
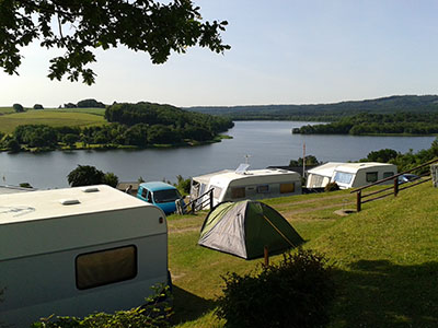
[[[182,199],[180,191],[172,185],[153,181],[142,183],[138,186],[137,198],[153,203],[171,214],[176,211],[175,200]]]

